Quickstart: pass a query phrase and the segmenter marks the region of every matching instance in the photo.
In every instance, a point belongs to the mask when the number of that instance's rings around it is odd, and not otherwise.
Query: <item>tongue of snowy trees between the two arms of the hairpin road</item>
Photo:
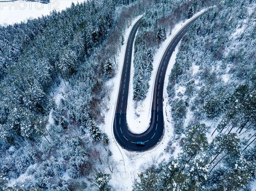
[[[134,47],[133,99],[145,99],[148,92],[154,53],[176,23],[192,17],[195,12],[212,6],[211,0],[151,1],[151,9],[142,18]],[[154,66],[156,67],[156,66]]]

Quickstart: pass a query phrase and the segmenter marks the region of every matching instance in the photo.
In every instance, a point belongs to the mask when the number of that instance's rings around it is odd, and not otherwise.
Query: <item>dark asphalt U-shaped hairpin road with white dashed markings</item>
[[[160,142],[164,134],[164,120],[163,120],[163,85],[164,78],[166,75],[166,69],[169,63],[169,60],[172,56],[172,52],[175,50],[175,47],[183,37],[183,35],[188,31],[189,26],[195,20],[200,17],[201,14],[190,20],[186,23],[180,31],[177,32],[175,37],[172,38],[172,41],[169,43],[166,48],[159,67],[157,69],[157,75],[154,83],[154,94],[152,101],[151,109],[151,122],[149,128],[142,134],[134,134],[129,131],[127,122],[126,122],[126,110],[127,110],[127,100],[128,100],[128,91],[129,91],[129,82],[130,82],[130,71],[131,71],[131,56],[132,48],[134,44],[134,38],[136,31],[139,27],[140,20],[138,20],[131,29],[130,35],[127,40],[126,50],[125,50],[125,59],[122,68],[121,81],[119,86],[119,94],[117,98],[116,111],[114,116],[113,123],[113,133],[114,136],[121,145],[122,148],[125,148],[128,151],[145,151],[153,148]],[[144,146],[136,145],[137,141],[145,142]]]

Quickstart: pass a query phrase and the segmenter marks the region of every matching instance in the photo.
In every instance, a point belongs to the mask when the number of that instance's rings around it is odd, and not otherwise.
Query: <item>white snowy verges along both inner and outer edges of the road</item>
[[[200,13],[198,13],[200,14]],[[197,15],[198,15],[197,14]],[[139,17],[138,17],[139,18]],[[138,19],[137,18],[137,19]],[[137,20],[136,19],[136,20]],[[129,32],[131,31],[131,28],[133,24],[136,22],[134,20],[131,24],[131,26],[126,30],[125,32],[125,37],[129,36]],[[167,37],[166,41],[162,44],[162,46],[159,48],[157,51],[157,54],[155,54],[154,57],[154,71],[152,74],[152,79],[150,81],[151,88],[148,91],[148,96],[145,99],[143,103],[147,104],[145,107],[147,107],[147,111],[141,112],[140,113],[140,119],[143,121],[144,126],[142,127],[141,123],[139,123],[138,119],[132,119],[134,116],[134,106],[133,106],[133,101],[132,101],[132,83],[130,82],[130,91],[129,91],[129,98],[128,98],[128,111],[127,111],[127,118],[128,118],[128,124],[130,127],[136,127],[132,128],[131,130],[133,132],[140,133],[142,131],[145,131],[147,128],[147,125],[145,125],[145,121],[147,124],[149,124],[150,117],[148,113],[151,111],[149,110],[151,106],[151,97],[152,97],[152,91],[153,91],[153,84],[154,84],[154,79],[157,71],[157,66],[160,62],[160,58],[162,57],[163,51],[166,49],[168,46],[169,42],[172,40],[173,35],[177,33],[177,31],[180,30],[180,28],[184,25],[184,23],[188,22],[189,20],[186,20],[185,22],[181,22],[175,26],[175,29],[172,31],[172,35]],[[150,167],[152,164],[158,164],[163,160],[168,160],[171,153],[168,151],[168,145],[169,143],[172,144],[172,148],[174,153],[172,154],[173,157],[177,157],[177,154],[180,153],[180,145],[178,144],[177,140],[174,140],[173,135],[173,128],[172,128],[172,117],[170,116],[170,110],[171,107],[168,104],[168,94],[167,94],[167,85],[168,85],[168,75],[171,72],[172,66],[175,63],[178,47],[175,48],[175,51],[172,54],[172,57],[169,61],[169,65],[166,71],[166,77],[165,77],[165,84],[164,84],[164,101],[163,101],[163,111],[165,112],[164,115],[164,121],[165,121],[165,133],[164,137],[159,145],[157,145],[155,148],[153,148],[151,151],[145,151],[145,152],[130,152],[126,151],[125,149],[122,149],[118,143],[116,143],[116,140],[113,135],[113,119],[114,119],[114,113],[115,113],[115,104],[117,101],[117,95],[118,95],[118,89],[119,89],[119,82],[120,82],[120,77],[122,73],[122,67],[123,67],[123,59],[124,59],[124,53],[125,53],[125,48],[126,44],[124,44],[121,47],[121,51],[119,53],[119,57],[117,58],[117,74],[116,77],[108,82],[108,86],[113,88],[113,91],[111,92],[111,99],[110,101],[105,100],[106,104],[109,106],[108,111],[102,111],[102,114],[105,115],[105,124],[103,124],[102,129],[106,131],[108,134],[108,137],[111,139],[111,151],[113,153],[113,157],[118,162],[117,165],[117,171],[114,171],[112,173],[112,179],[110,181],[111,185],[114,186],[117,190],[123,190],[123,191],[131,191],[132,190],[132,184],[135,179],[137,179],[138,174],[141,171],[145,171],[146,168]],[[132,66],[133,67],[133,64]],[[133,77],[133,68],[131,69],[131,78]],[[132,81],[132,80],[131,80]],[[131,105],[131,106],[130,106]],[[139,107],[140,108],[140,107]],[[143,108],[143,110],[145,110]],[[137,110],[138,112],[138,110]],[[132,117],[130,117],[132,116]],[[135,126],[137,124],[137,126]],[[139,126],[140,124],[140,126]],[[110,173],[110,172],[108,172]],[[110,173],[111,174],[111,173]]]

